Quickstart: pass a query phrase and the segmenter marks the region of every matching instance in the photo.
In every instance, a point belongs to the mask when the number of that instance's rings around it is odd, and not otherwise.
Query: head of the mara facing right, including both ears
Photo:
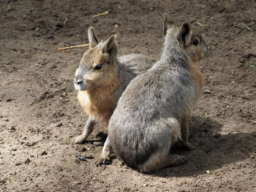
[[[192,61],[200,61],[207,54],[207,43],[202,35],[190,29],[188,23],[178,26],[177,22],[166,12],[163,12],[163,17],[163,34],[166,41],[176,41],[179,49]]]

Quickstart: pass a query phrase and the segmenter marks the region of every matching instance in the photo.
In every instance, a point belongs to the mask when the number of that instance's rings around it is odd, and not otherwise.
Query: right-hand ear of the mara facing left
[[[105,41],[100,49],[102,54],[107,53],[111,58],[114,58],[117,55],[117,45],[115,37],[115,35],[112,35],[110,38],[108,38],[107,41]]]

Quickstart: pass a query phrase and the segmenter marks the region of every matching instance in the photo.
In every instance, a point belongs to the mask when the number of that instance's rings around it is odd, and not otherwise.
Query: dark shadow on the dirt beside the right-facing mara
[[[223,125],[215,120],[193,116],[189,121],[193,151],[183,151],[179,144],[171,148],[171,153],[184,155],[186,164],[162,169],[151,175],[161,177],[183,177],[201,175],[207,170],[218,169],[226,164],[249,158],[255,153],[256,133],[220,134]]]

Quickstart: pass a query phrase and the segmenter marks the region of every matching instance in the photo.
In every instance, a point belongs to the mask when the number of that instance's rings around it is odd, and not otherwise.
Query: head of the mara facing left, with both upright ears
[[[107,86],[115,75],[115,35],[98,44],[94,29],[90,27],[88,38],[89,49],[84,52],[75,74],[74,84],[77,90],[100,89],[99,87]]]

